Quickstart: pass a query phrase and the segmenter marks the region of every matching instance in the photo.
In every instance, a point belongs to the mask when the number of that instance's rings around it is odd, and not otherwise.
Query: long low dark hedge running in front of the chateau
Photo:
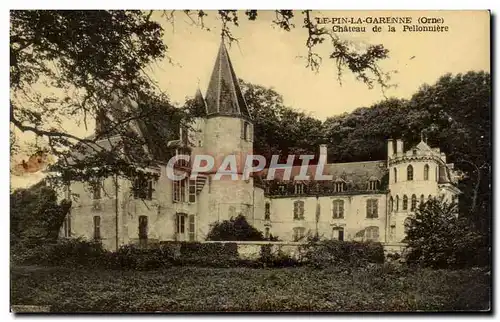
[[[314,241],[302,246],[302,256],[292,258],[279,248],[262,245],[258,260],[242,260],[236,243],[167,242],[140,247],[122,246],[109,252],[94,241],[83,239],[61,240],[56,244],[37,247],[18,247],[13,260],[22,264],[47,266],[93,266],[122,270],[154,270],[171,266],[202,267],[289,267],[309,265],[362,266],[383,263],[384,251],[380,243]]]

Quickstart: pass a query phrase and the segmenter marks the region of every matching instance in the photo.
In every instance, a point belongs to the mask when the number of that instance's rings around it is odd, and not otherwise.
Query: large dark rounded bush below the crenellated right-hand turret
[[[433,268],[488,265],[485,238],[457,215],[457,205],[431,199],[407,226],[408,262]]]

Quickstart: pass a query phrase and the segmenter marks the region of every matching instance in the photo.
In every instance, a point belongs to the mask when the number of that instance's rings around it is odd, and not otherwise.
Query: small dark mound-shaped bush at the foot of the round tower
[[[259,241],[265,240],[262,232],[250,225],[243,215],[236,218],[215,222],[207,234],[207,240],[213,241]]]

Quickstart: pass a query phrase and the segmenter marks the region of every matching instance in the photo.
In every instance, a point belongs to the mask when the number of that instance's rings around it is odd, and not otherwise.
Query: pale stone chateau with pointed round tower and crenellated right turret
[[[293,180],[300,167],[273,169],[275,179],[217,180],[213,172],[170,180],[164,147],[182,154],[244,157],[253,151],[253,122],[228,52],[222,43],[205,96],[195,96],[196,117],[179,139],[148,146],[157,160],[145,171],[154,179],[130,182],[106,178],[97,185],[72,182],[67,193],[77,194],[61,231],[62,236],[98,238],[108,249],[129,243],[203,241],[210,225],[244,215],[248,222],[283,241],[307,235],[340,240],[400,242],[405,220],[429,198],[456,198],[453,164],[439,148],[423,140],[409,149],[402,140],[388,140],[387,159],[327,163],[330,181]],[[147,137],[147,124],[137,122],[138,135]],[[319,147],[326,160],[327,146]],[[170,169],[172,170],[172,169]],[[315,166],[307,169],[311,173]],[[183,164],[175,172],[190,172]],[[263,171],[261,175],[270,171]],[[280,180],[291,171],[291,180]],[[240,172],[241,173],[241,172]]]

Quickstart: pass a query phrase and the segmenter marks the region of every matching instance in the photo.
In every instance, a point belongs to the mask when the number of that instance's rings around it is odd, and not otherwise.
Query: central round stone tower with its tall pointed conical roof
[[[247,155],[253,153],[253,122],[224,42],[205,97],[205,151],[233,173],[210,174],[209,209],[213,221],[243,214],[253,221],[253,179],[242,178]]]

